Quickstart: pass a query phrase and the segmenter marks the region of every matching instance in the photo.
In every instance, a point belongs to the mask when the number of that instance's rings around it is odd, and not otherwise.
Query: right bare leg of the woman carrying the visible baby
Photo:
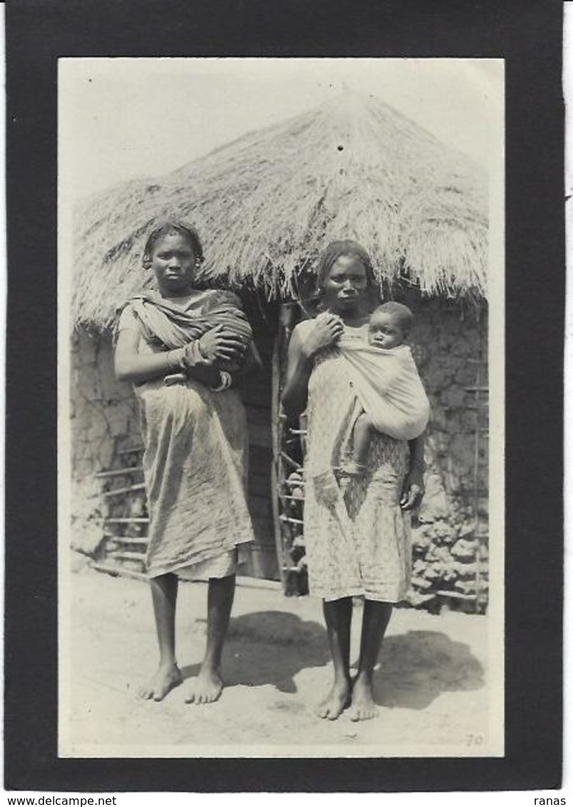
[[[373,672],[391,614],[391,603],[375,600],[364,602],[358,674],[352,684],[351,720],[369,720],[377,715],[373,697]]]

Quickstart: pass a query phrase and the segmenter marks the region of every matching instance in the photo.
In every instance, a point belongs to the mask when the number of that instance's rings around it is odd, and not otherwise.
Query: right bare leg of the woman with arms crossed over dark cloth
[[[192,683],[192,689],[185,698],[187,703],[206,704],[221,695],[221,653],[231,608],[233,607],[235,575],[210,578],[207,595],[207,647],[199,675]]]

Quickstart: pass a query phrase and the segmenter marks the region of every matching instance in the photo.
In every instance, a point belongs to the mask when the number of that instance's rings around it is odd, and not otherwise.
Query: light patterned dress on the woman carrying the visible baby
[[[367,326],[348,330],[366,340]],[[325,493],[325,467],[352,458],[352,427],[361,411],[339,350],[318,353],[306,410],[304,530],[310,593],[324,600],[364,596],[396,603],[406,595],[411,576],[411,516],[399,505],[407,442],[373,434],[366,474],[348,479],[339,494],[348,518],[341,520],[333,506],[332,487]]]

